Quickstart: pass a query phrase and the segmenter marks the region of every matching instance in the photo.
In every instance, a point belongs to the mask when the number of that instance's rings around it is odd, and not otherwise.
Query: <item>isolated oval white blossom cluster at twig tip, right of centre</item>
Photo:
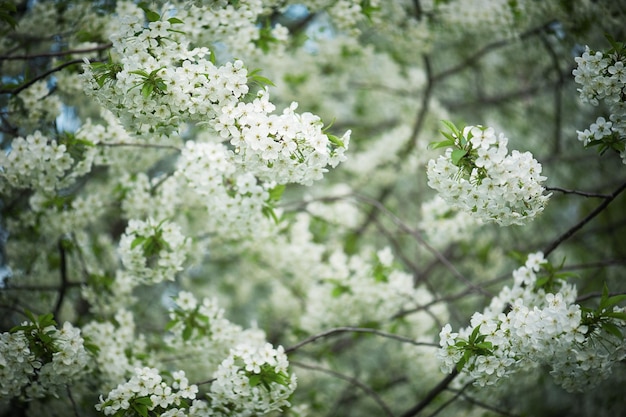
[[[522,225],[544,209],[541,164],[530,152],[508,153],[508,139],[491,127],[453,125],[445,154],[428,162],[428,185],[452,208],[483,222]]]

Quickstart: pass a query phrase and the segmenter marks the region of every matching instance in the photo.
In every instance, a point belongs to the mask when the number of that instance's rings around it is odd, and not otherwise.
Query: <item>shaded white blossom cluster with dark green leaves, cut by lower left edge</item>
[[[80,329],[69,322],[57,328],[51,314],[31,319],[0,334],[0,398],[63,395],[89,371]]]

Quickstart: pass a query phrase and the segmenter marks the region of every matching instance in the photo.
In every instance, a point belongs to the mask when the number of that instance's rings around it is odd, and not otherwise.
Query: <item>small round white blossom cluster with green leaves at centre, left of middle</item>
[[[120,238],[124,267],[138,282],[173,281],[183,269],[187,240],[174,223],[154,219],[130,220]]]

